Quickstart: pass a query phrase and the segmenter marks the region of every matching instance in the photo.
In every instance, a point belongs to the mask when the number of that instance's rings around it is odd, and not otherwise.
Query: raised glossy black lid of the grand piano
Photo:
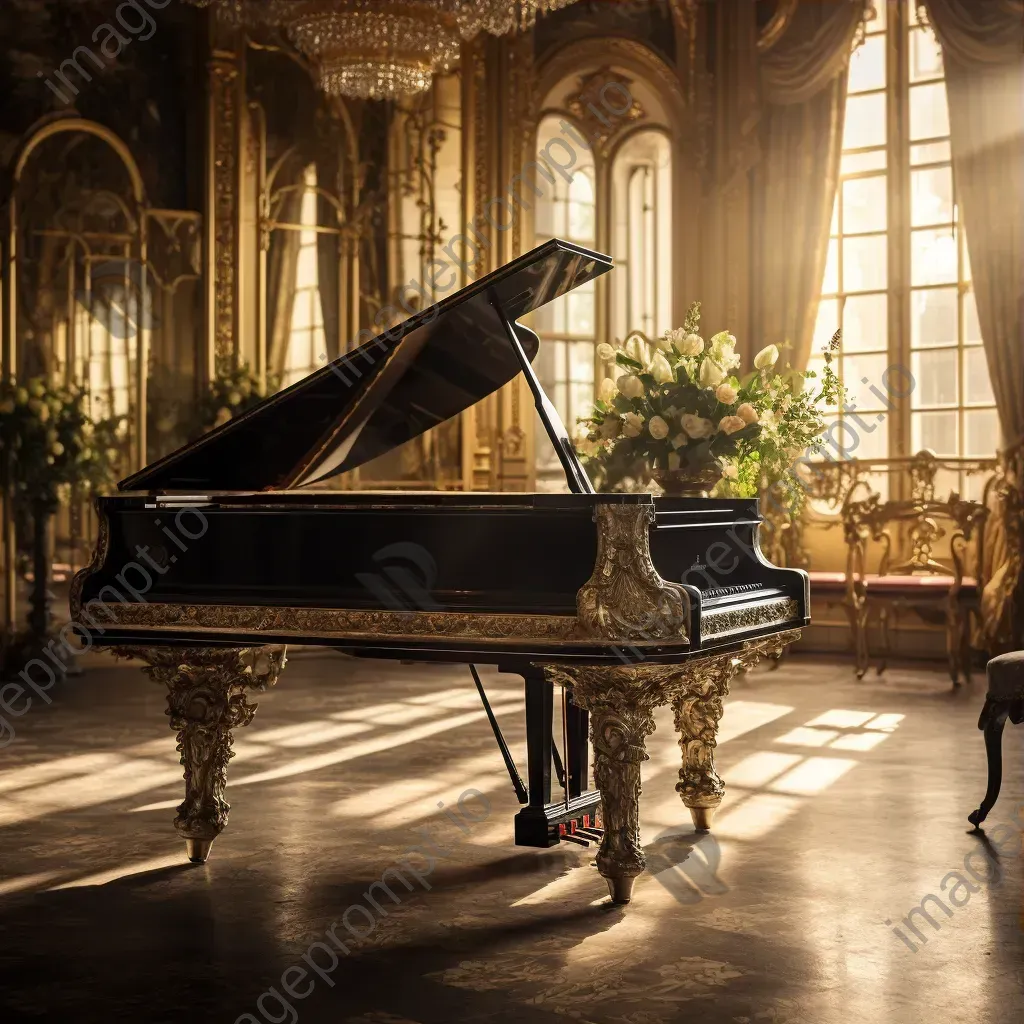
[[[554,239],[129,476],[120,490],[279,490],[353,469],[457,416],[520,372],[505,317],[611,269]],[[497,303],[497,307],[496,307]],[[516,334],[527,357],[537,336]]]

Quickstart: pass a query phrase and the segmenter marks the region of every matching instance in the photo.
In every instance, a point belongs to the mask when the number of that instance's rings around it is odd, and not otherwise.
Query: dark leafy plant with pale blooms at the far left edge
[[[120,468],[121,417],[94,422],[86,393],[42,377],[0,384],[0,480],[52,514],[71,488],[102,490]]]

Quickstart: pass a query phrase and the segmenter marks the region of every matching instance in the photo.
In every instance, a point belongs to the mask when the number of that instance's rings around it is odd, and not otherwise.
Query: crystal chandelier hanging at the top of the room
[[[284,29],[330,95],[392,99],[423,92],[479,32],[528,29],[573,0],[188,0],[234,24]]]

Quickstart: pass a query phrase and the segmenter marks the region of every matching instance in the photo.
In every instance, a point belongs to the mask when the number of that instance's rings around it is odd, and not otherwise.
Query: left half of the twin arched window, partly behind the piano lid
[[[538,130],[538,160],[553,138],[564,139],[560,118],[545,118]],[[594,156],[578,139],[572,144],[577,163],[571,179],[566,181],[556,168],[550,168],[554,183],[538,179],[543,194],[538,197],[535,214],[537,244],[548,239],[564,239],[588,249],[596,248],[597,207],[595,202]],[[569,433],[577,418],[586,416],[594,404],[594,348],[597,342],[597,315],[594,282],[574,288],[534,314],[534,329],[541,336],[537,356],[537,375],[548,396],[555,403]],[[539,438],[545,438],[538,431]],[[558,458],[546,438],[537,446],[538,486],[561,488],[564,474]]]

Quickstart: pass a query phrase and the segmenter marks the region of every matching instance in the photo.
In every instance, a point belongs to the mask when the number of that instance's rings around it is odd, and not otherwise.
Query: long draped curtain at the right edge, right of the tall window
[[[956,196],[1008,449],[985,532],[990,651],[1019,647],[1024,497],[1024,4],[927,0],[942,46]]]

